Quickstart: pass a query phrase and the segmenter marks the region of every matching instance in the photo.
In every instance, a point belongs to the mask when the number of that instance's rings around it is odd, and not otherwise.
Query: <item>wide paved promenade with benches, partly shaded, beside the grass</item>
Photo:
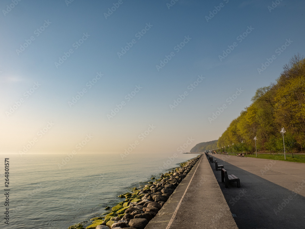
[[[228,174],[240,179],[229,188],[221,171],[213,173],[239,229],[305,228],[305,164],[210,154]],[[203,203],[203,202],[202,202]],[[225,227],[223,227],[225,228]]]

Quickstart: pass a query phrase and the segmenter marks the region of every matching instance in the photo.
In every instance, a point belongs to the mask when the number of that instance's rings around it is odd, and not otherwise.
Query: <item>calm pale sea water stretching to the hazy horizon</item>
[[[60,166],[65,154],[0,155],[4,188],[4,158],[9,157],[9,225],[4,224],[1,194],[0,228],[67,229],[123,201],[117,196],[150,181],[198,154],[77,154]],[[174,161],[170,161],[172,157]]]

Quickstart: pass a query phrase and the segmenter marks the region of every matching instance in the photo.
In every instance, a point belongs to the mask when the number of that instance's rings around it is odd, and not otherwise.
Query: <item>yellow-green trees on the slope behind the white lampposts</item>
[[[285,149],[301,151],[305,146],[305,58],[292,57],[275,83],[258,88],[252,104],[232,120],[219,137],[217,148],[230,145],[236,152],[281,152],[284,127]],[[287,141],[287,143],[286,143]],[[241,143],[243,142],[243,143]],[[232,144],[234,143],[234,145]],[[221,150],[220,150],[221,151]]]

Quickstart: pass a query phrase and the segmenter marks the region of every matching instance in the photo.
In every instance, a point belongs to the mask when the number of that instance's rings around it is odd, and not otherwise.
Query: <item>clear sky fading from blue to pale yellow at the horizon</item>
[[[218,139],[257,88],[305,54],[304,9],[3,0],[1,153],[175,153]]]

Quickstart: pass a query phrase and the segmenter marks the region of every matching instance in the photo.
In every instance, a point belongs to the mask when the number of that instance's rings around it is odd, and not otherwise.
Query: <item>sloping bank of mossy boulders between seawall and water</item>
[[[133,188],[131,192],[119,195],[120,198],[125,198],[125,200],[111,209],[107,207],[106,209],[109,209],[110,213],[92,218],[91,225],[87,226],[86,229],[144,229],[199,158],[200,156],[197,156],[181,163],[180,167],[166,174],[161,174],[160,179],[148,182],[141,189]],[[152,177],[152,179],[155,178]],[[76,224],[68,229],[84,229],[83,225],[84,223]]]

